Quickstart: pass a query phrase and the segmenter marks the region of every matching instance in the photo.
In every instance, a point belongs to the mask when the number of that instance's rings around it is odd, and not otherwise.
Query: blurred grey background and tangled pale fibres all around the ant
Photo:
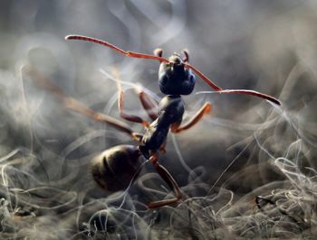
[[[315,1],[2,1],[0,167],[2,238],[211,239],[316,235],[317,3]],[[169,189],[146,164],[127,192],[100,189],[91,159],[129,136],[67,110],[34,83],[32,65],[70,97],[119,118],[120,74],[128,113],[147,117],[135,88],[159,92],[159,62],[136,60],[68,34],[189,62],[221,88],[254,89],[282,106],[216,95],[200,78],[185,120],[159,159],[184,192],[177,207],[146,208]],[[111,77],[112,76],[112,77]],[[112,79],[112,80],[111,80]],[[130,124],[136,131],[140,125]],[[258,198],[262,196],[262,198]],[[190,214],[192,217],[190,217]],[[58,233],[56,232],[58,231]]]

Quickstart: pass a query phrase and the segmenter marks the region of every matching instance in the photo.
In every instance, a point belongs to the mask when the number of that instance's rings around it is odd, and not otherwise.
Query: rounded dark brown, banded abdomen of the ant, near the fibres
[[[127,189],[144,161],[140,155],[134,145],[118,145],[101,152],[91,162],[92,177],[102,189],[113,192]]]

